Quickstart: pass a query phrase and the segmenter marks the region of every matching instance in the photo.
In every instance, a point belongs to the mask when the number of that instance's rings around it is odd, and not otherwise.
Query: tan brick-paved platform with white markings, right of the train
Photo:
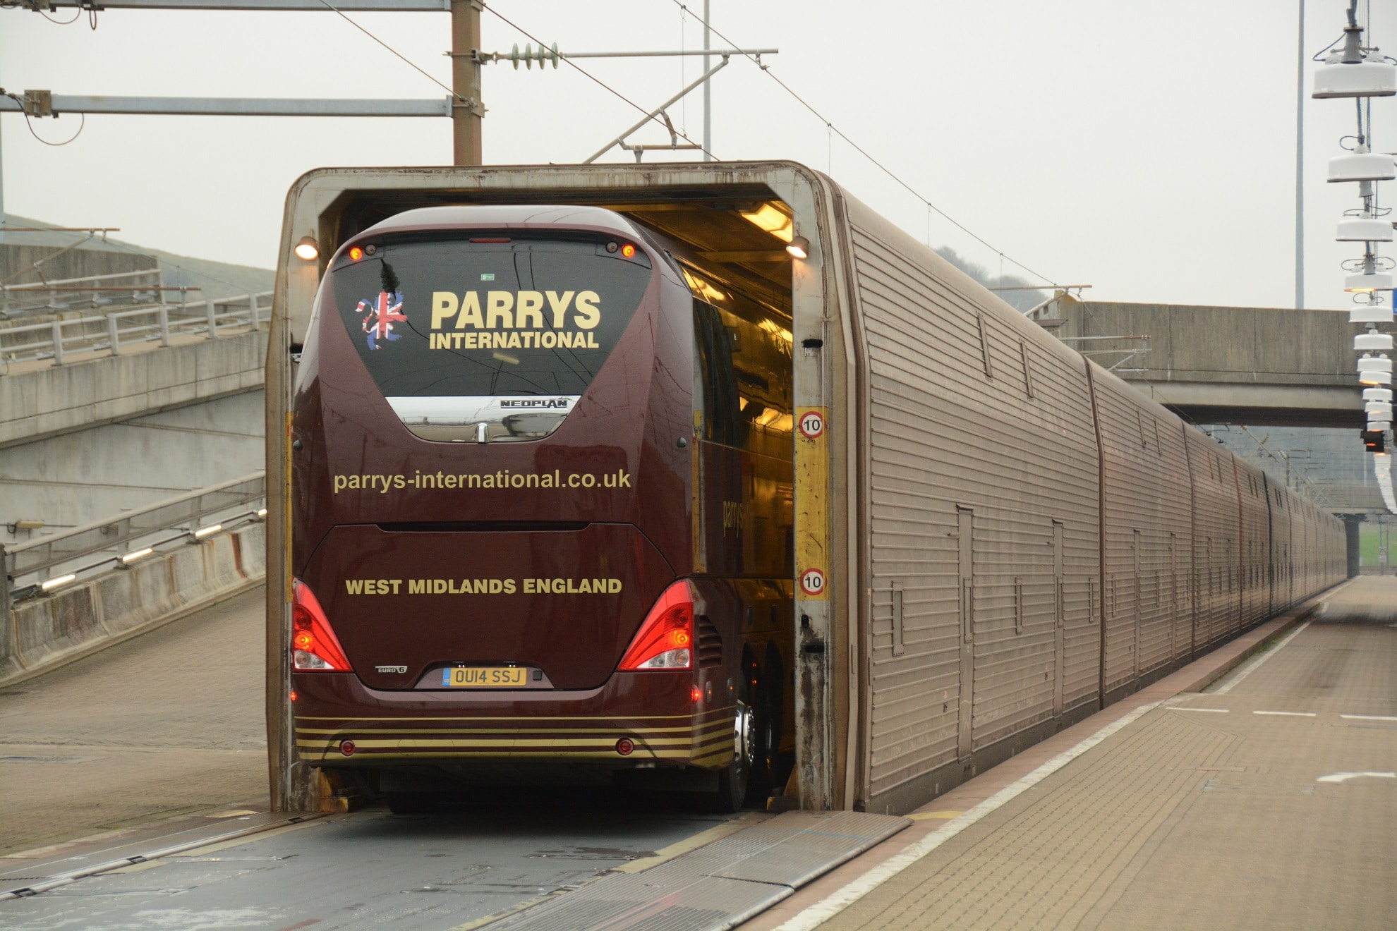
[[[1397,579],[1296,621],[943,796],[742,927],[1397,925]]]

